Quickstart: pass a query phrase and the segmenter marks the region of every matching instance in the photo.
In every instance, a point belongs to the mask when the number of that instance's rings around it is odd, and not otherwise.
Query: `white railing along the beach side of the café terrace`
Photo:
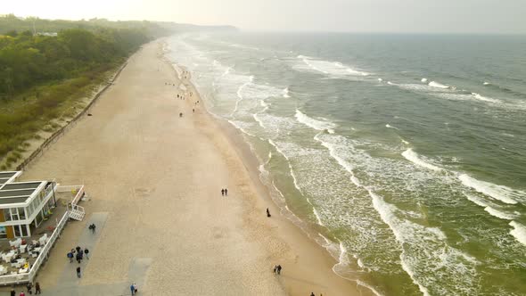
[[[60,222],[57,224],[56,228],[53,231],[53,234],[49,237],[49,240],[47,243],[45,243],[44,247],[38,254],[37,260],[29,269],[29,273],[24,274],[18,274],[18,275],[0,275],[0,285],[8,285],[8,284],[22,284],[22,283],[28,283],[33,282],[33,279],[37,275],[38,269],[44,263],[45,259],[47,259],[49,255],[49,251],[51,251],[51,248],[53,247],[53,244],[55,243],[56,239],[60,236],[62,229],[66,225],[66,222],[68,222],[68,219],[70,218],[70,212],[66,211],[64,213],[64,216],[62,216]]]

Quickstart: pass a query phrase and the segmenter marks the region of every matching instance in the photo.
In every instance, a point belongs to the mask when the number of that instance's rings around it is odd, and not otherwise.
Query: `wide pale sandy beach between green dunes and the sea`
[[[144,295],[369,294],[335,275],[335,260],[279,214],[258,164],[233,131],[194,104],[201,99],[188,79],[177,79],[160,41],[144,45],[91,108],[93,116],[26,169],[23,179],[84,184],[90,198],[81,203],[85,220],[66,226],[40,270],[44,290],[60,290],[70,268],[66,252],[88,219],[104,213],[80,290],[122,284],[127,291],[139,281]],[[193,95],[178,99],[179,83]],[[137,259],[149,262],[143,279],[129,275]],[[275,264],[282,275],[273,274]]]

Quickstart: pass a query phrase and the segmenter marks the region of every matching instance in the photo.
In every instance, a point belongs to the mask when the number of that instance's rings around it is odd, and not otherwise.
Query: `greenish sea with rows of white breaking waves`
[[[168,38],[282,214],[376,295],[526,295],[526,37]]]

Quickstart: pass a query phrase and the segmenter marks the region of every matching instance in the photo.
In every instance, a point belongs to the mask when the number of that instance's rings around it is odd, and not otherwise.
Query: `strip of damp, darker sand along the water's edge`
[[[166,48],[166,42],[164,40],[161,42],[163,49]],[[185,65],[172,62],[168,57],[163,57],[163,60],[169,66],[173,64],[177,65],[179,69],[186,70]],[[175,72],[177,75],[177,70]],[[190,73],[191,75],[192,73]],[[185,82],[186,88],[197,95],[196,99],[202,100],[191,78]],[[260,179],[259,166],[261,161],[252,151],[251,144],[247,142],[242,132],[233,127],[226,119],[218,118],[208,110],[203,113],[203,116],[213,122],[224,134],[230,149],[233,149],[240,158],[251,179],[251,186],[256,196],[251,201],[250,209],[246,209],[246,224],[249,227],[256,224],[267,227],[265,234],[259,234],[260,239],[264,240],[263,244],[267,252],[276,261],[286,262],[288,271],[292,270],[290,277],[284,276],[285,280],[280,281],[287,294],[308,295],[311,291],[318,291],[324,295],[374,295],[371,288],[353,280],[345,279],[333,270],[333,267],[339,262],[320,243],[315,242],[314,230],[307,229],[308,226],[306,225],[295,224],[292,219],[300,220],[300,218],[297,218],[290,210],[287,210],[289,217],[284,216],[285,209],[276,204],[276,201],[271,197],[270,188],[263,184]],[[265,216],[266,208],[272,213],[272,218],[261,218]],[[254,218],[256,216],[258,218]],[[273,240],[277,242],[272,242]],[[272,245],[273,243],[287,245],[288,254],[277,253]]]

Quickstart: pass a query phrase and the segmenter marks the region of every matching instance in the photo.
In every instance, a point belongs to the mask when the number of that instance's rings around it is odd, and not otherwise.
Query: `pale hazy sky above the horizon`
[[[240,29],[526,33],[526,0],[0,0],[50,19],[177,21]]]

